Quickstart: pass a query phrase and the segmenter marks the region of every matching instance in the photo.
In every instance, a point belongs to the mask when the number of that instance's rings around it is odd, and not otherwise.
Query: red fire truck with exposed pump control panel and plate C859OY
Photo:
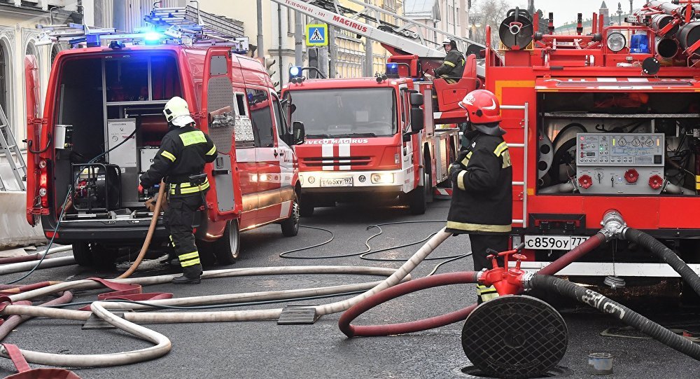
[[[651,1],[624,25],[594,14],[585,35],[581,15],[573,35],[554,35],[551,13],[545,31],[523,11],[502,22],[500,51],[486,49],[486,89],[505,105],[523,268],[554,261],[617,209],[700,272],[700,23],[690,18],[699,11]],[[612,286],[677,276],[626,241],[559,274]]]

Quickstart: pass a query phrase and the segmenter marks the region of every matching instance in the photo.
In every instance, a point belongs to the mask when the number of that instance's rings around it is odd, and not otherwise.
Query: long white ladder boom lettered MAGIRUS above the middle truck
[[[402,50],[407,54],[418,55],[426,58],[442,58],[445,53],[442,50],[442,39],[454,39],[457,47],[462,51],[470,51],[470,46],[486,48],[484,45],[465,39],[454,34],[443,32],[430,25],[416,22],[410,18],[398,15],[379,6],[366,4],[364,0],[346,0],[360,8],[354,10],[341,6],[338,0],[272,0],[277,4],[292,8],[294,11],[304,13],[322,22],[339,27],[340,29],[365,36],[379,43]],[[393,25],[386,19],[397,20],[401,25]],[[440,39],[430,41],[423,36],[422,30],[426,29]],[[430,47],[430,45],[435,46]],[[473,49],[473,48],[472,48]]]

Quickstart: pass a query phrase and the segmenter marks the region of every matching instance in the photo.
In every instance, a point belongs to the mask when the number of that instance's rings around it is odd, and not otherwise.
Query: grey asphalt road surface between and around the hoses
[[[444,220],[449,202],[436,201],[423,216],[411,216],[407,209],[372,204],[347,204],[316,209],[312,217],[302,219],[309,226],[323,227],[335,233],[335,239],[323,247],[299,251],[293,256],[314,259],[283,259],[279,253],[323,242],[330,236],[322,230],[302,228],[297,237],[282,237],[279,226],[272,225],[242,235],[241,258],[235,268],[264,266],[378,266],[398,268],[400,261],[365,261],[358,256],[322,259],[327,255],[365,251],[367,237],[377,233],[367,226],[395,221]],[[373,249],[414,242],[438,230],[440,223],[407,223],[382,226],[383,233],[370,241]],[[385,251],[372,257],[407,259],[420,244]],[[430,257],[453,256],[468,252],[467,237],[451,237]],[[425,261],[414,270],[421,277],[442,260]],[[22,283],[43,280],[76,280],[83,277],[116,277],[126,264],[111,269],[92,270],[78,266],[38,270]],[[471,259],[461,259],[440,267],[438,273],[470,270]],[[158,260],[146,261],[136,275],[175,273]],[[8,282],[19,274],[2,277]],[[275,289],[322,287],[377,280],[356,275],[290,275],[236,277],[204,280],[200,285],[175,287],[163,284],[148,291],[172,292],[174,296],[200,296]],[[96,298],[100,291],[78,291],[76,301]],[[698,310],[679,308],[675,299],[612,294],[621,302],[666,326],[700,332]],[[304,303],[330,303],[320,299]],[[356,324],[407,322],[458,310],[475,301],[473,285],[454,285],[420,291],[388,302],[365,313]],[[282,305],[258,305],[233,309],[281,308]],[[582,307],[560,305],[568,326],[568,348],[553,375],[568,378],[601,378],[589,375],[588,354],[608,352],[613,356],[612,375],[608,378],[697,378],[698,361],[666,347],[655,340],[601,336],[601,331],[624,326],[619,321]],[[461,347],[463,322],[439,329],[403,336],[346,338],[337,328],[339,315],[321,317],[312,325],[278,325],[274,321],[153,324],[149,328],[172,340],[172,351],[165,357],[130,366],[110,368],[76,368],[82,378],[474,378],[470,362]],[[3,342],[22,348],[59,354],[94,354],[122,352],[148,347],[149,343],[123,331],[82,330],[82,323],[33,319],[10,333]],[[626,336],[636,333],[622,331]],[[32,364],[34,368],[39,367]],[[0,375],[14,373],[10,361],[0,361]],[[549,375],[552,377],[552,375]]]

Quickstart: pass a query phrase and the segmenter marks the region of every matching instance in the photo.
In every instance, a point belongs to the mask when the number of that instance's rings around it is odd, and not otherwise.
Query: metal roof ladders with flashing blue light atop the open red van
[[[133,33],[121,33],[113,28],[88,27],[82,24],[36,25],[44,32],[38,44],[66,42],[72,46],[87,43],[101,46],[102,41],[129,41],[132,43],[179,43],[187,46],[232,46],[235,53],[248,52],[248,37],[244,36],[242,22],[202,12],[193,6],[159,8],[154,6],[144,16],[147,27],[137,27]]]

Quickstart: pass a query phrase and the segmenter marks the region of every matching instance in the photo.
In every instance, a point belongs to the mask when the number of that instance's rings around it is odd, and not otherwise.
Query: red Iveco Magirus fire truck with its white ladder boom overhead
[[[283,97],[295,106],[291,117],[302,121],[307,132],[307,142],[295,146],[302,214],[348,197],[396,195],[412,213],[422,214],[433,194],[449,195],[447,166],[456,157],[458,130],[435,125],[454,127],[463,121],[457,103],[478,88],[478,67],[470,56],[463,78],[454,78],[458,83],[426,81],[423,71],[439,67],[445,53],[431,47],[441,45],[428,41],[423,31],[440,35],[440,41],[454,39],[462,51],[479,45],[361,0],[349,0],[353,8],[335,0],[272,1],[378,41],[392,53],[388,78],[299,79],[283,86]],[[398,20],[401,26],[386,20]],[[298,75],[300,67],[291,71]]]

